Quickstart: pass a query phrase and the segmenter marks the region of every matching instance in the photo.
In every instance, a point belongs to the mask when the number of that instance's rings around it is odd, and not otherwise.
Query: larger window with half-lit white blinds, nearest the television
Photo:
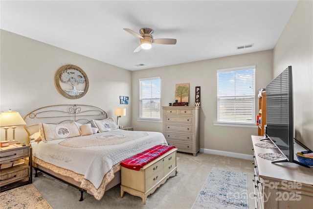
[[[255,66],[217,70],[217,121],[255,123]]]

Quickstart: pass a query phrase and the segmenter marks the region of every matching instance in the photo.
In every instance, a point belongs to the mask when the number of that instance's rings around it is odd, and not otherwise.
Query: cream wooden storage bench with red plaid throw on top
[[[121,162],[121,197],[124,192],[142,198],[155,192],[175,173],[178,175],[175,146],[156,145]]]

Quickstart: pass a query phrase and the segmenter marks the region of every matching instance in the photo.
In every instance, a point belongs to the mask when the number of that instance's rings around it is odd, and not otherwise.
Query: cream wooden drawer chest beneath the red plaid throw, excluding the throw
[[[139,171],[121,167],[121,197],[127,192],[141,197],[142,204],[145,205],[147,197],[156,188],[164,184],[172,174],[177,175],[176,151],[177,149],[171,149]]]

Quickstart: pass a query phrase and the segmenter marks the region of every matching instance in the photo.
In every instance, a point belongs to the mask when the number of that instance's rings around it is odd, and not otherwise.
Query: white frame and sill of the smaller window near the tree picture
[[[154,98],[142,98],[142,93],[141,93],[141,82],[142,81],[152,81],[152,80],[159,80],[159,84],[160,84],[160,94],[159,94],[159,98],[154,97]],[[153,99],[153,100],[158,100],[159,101],[159,107],[156,111],[159,111],[159,117],[144,117],[141,115],[142,113],[142,101],[143,100],[149,100],[149,99]],[[161,77],[157,76],[157,77],[149,77],[149,78],[140,78],[139,79],[139,118],[137,118],[138,121],[151,121],[151,122],[162,122],[161,119]]]

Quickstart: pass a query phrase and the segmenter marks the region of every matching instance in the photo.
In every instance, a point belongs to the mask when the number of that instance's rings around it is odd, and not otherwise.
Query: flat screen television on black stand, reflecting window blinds
[[[266,139],[270,139],[285,157],[272,163],[291,162],[308,167],[294,159],[291,66],[267,85],[266,97]]]

